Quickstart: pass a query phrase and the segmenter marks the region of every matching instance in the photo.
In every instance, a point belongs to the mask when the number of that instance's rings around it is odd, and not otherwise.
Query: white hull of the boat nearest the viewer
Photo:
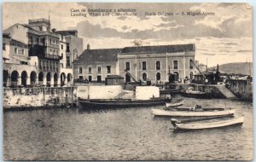
[[[175,130],[205,130],[205,129],[214,129],[222,128],[226,126],[232,126],[237,124],[243,124],[243,117],[237,119],[224,119],[217,121],[210,121],[206,123],[191,122],[188,124],[177,124]]]

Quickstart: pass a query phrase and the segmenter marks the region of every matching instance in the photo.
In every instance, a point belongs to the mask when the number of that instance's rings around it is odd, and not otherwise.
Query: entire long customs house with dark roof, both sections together
[[[74,77],[89,82],[102,83],[108,75],[119,75],[125,82],[168,82],[192,78],[195,45],[161,45],[125,47],[124,49],[90,49],[74,61]],[[172,75],[171,75],[172,74]]]

